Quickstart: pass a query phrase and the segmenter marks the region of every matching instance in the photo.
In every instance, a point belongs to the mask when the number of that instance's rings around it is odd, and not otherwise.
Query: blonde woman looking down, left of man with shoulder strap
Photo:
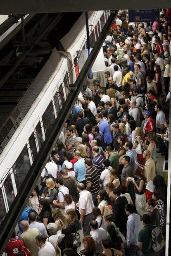
[[[49,178],[49,179],[45,180],[45,184],[46,184],[46,187],[43,190],[42,196],[45,200],[47,200],[51,204],[52,208],[55,208],[56,206],[52,203],[53,200],[57,196],[57,190],[55,189],[55,183],[52,178]]]

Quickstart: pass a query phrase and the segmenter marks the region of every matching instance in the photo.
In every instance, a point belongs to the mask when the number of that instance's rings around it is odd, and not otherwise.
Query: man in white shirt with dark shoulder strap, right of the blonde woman
[[[69,194],[69,189],[64,186],[62,178],[55,179],[55,186],[58,188],[57,200],[53,201],[56,207],[64,209],[64,195]]]

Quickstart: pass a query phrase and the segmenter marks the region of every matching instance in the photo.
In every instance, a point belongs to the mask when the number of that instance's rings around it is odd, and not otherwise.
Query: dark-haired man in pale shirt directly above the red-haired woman
[[[98,228],[98,223],[96,220],[90,221],[90,235],[95,240],[96,243],[96,253],[100,254],[102,253],[102,239],[106,237],[106,230],[104,228],[100,227]]]

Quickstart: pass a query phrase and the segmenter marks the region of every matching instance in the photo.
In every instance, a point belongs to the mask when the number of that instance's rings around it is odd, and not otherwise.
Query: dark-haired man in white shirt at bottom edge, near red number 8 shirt
[[[56,251],[54,247],[50,242],[46,242],[46,238],[42,234],[39,234],[36,237],[36,244],[38,247],[40,247],[38,256],[56,256]]]

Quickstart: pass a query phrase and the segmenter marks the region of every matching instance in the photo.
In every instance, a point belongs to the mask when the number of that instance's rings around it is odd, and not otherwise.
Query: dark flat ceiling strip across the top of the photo
[[[0,0],[0,14],[171,8],[170,0]]]

